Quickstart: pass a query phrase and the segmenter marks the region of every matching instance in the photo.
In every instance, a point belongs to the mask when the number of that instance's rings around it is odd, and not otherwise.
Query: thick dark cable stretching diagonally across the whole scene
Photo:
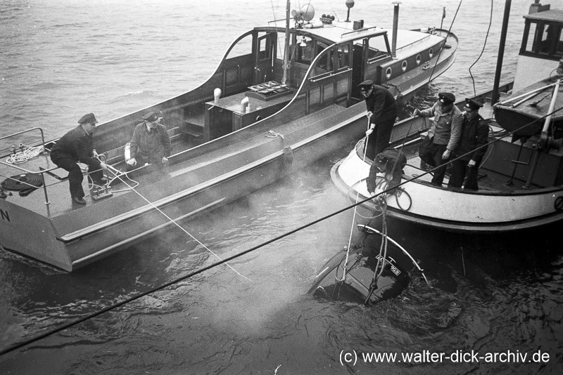
[[[563,110],[563,107],[560,107],[560,108],[558,108],[557,110],[554,110],[553,112],[551,112],[551,113],[549,113],[549,114],[546,114],[546,115],[543,116],[543,117],[540,117],[539,119],[535,119],[535,120],[531,121],[529,124],[525,124],[525,125],[523,125],[523,126],[520,126],[518,129],[515,129],[514,132],[521,131],[522,129],[525,129],[526,127],[531,126],[532,124],[535,124],[536,122],[538,122],[538,121],[540,121],[540,120],[543,120],[543,119],[547,118],[548,116],[551,116],[552,114],[555,114],[556,112],[559,112],[559,111],[561,111],[561,110]],[[480,147],[477,147],[475,150],[479,150],[479,149],[482,148],[482,147],[488,147],[488,145],[490,145],[490,144],[492,144],[492,143],[496,143],[496,142],[498,142],[499,140],[501,140],[502,138],[505,138],[505,137],[509,136],[510,134],[511,134],[511,133],[507,133],[505,136],[502,136],[502,137],[500,137],[500,138],[497,138],[497,139],[495,139],[495,140],[493,140],[493,141],[487,143],[486,145],[482,145],[482,146],[480,146]],[[460,155],[459,157],[453,159],[452,161],[455,161],[455,160],[457,160],[457,159],[460,159],[460,158],[462,158],[462,157],[465,157],[465,156],[467,156],[467,155],[469,155],[469,154],[472,154],[473,152],[474,152],[474,150],[472,150],[472,151],[470,151],[470,152],[467,152],[467,153],[465,153],[465,154],[462,154],[462,155]],[[440,168],[440,166],[436,167],[435,169],[438,169],[438,168]],[[426,172],[422,173],[422,174],[419,175],[419,176],[415,176],[415,177],[413,177],[413,178],[409,178],[409,179],[407,179],[407,180],[405,180],[405,181],[402,181],[402,182],[399,183],[396,187],[402,186],[402,185],[405,185],[406,183],[410,183],[410,182],[412,182],[412,181],[414,181],[414,180],[417,180],[417,179],[419,179],[419,178],[422,177],[422,176],[426,176],[426,174],[431,173],[432,171],[434,171],[434,169],[431,169],[430,171],[426,171]],[[394,188],[394,187],[393,187],[393,188]],[[384,190],[383,192],[380,192],[378,195],[385,194],[385,193],[387,193],[388,191],[391,191],[391,189]],[[377,195],[375,195],[374,197],[377,197]],[[213,264],[207,265],[207,266],[205,266],[205,267],[203,267],[203,268],[200,268],[200,269],[198,269],[198,270],[195,270],[195,271],[193,271],[193,272],[189,272],[188,274],[186,274],[186,275],[184,275],[184,276],[181,276],[181,277],[177,277],[176,279],[173,279],[173,280],[171,280],[170,282],[166,282],[165,284],[161,284],[161,285],[159,285],[158,287],[153,287],[153,288],[149,289],[148,291],[144,291],[144,292],[142,292],[141,294],[137,294],[137,296],[132,296],[132,297],[126,298],[125,300],[123,300],[123,301],[121,301],[121,302],[115,303],[114,305],[107,306],[106,308],[103,308],[103,309],[101,309],[101,310],[99,310],[99,311],[96,311],[95,313],[91,313],[91,314],[86,315],[86,316],[84,316],[84,317],[81,317],[80,319],[77,319],[77,320],[75,320],[75,321],[65,323],[65,324],[61,325],[61,327],[58,327],[58,328],[53,329],[53,330],[51,330],[51,331],[44,332],[43,334],[39,334],[39,335],[37,335],[37,336],[35,336],[35,337],[32,337],[32,338],[29,338],[29,339],[27,339],[27,340],[25,340],[25,341],[20,341],[20,343],[16,343],[16,344],[14,344],[13,346],[10,346],[10,347],[8,347],[8,348],[5,348],[5,349],[0,350],[0,355],[5,355],[5,354],[7,354],[7,353],[11,353],[11,352],[13,352],[14,350],[17,350],[17,349],[19,349],[19,348],[23,348],[24,346],[27,346],[27,345],[29,345],[30,343],[34,343],[35,341],[41,340],[42,338],[51,336],[51,335],[53,335],[53,334],[57,334],[58,332],[64,331],[65,329],[68,329],[68,328],[70,328],[70,327],[74,327],[74,326],[77,325],[77,324],[80,324],[80,323],[82,323],[82,322],[86,322],[87,320],[90,320],[90,319],[92,319],[92,318],[94,318],[94,317],[98,317],[99,315],[102,315],[103,313],[107,313],[107,312],[109,312],[109,311],[111,311],[111,310],[115,310],[115,308],[119,308],[119,307],[121,307],[121,306],[123,306],[123,305],[127,305],[128,303],[132,303],[133,301],[137,301],[139,298],[142,298],[142,297],[144,297],[144,296],[147,296],[148,294],[155,293],[156,291],[160,291],[160,290],[165,289],[165,288],[167,288],[167,287],[170,287],[170,286],[172,286],[172,285],[174,285],[174,284],[177,284],[177,283],[179,283],[179,282],[182,282],[182,281],[184,281],[185,279],[189,279],[190,277],[194,277],[195,275],[199,275],[199,274],[202,273],[202,272],[205,272],[205,271],[210,270],[210,269],[212,269],[212,268],[215,268],[215,267],[217,267],[217,266],[219,266],[219,265],[222,265],[222,264],[224,264],[224,263],[227,263],[227,262],[229,262],[229,261],[232,261],[232,260],[234,260],[234,259],[236,259],[236,258],[239,258],[239,257],[243,256],[243,255],[249,254],[249,253],[251,253],[251,252],[253,252],[253,251],[256,251],[256,250],[258,250],[258,249],[260,249],[260,248],[262,248],[262,247],[264,247],[264,246],[266,246],[266,245],[268,245],[268,244],[272,244],[272,242],[277,242],[277,241],[279,241],[279,239],[282,239],[282,238],[288,237],[288,236],[290,236],[290,235],[293,235],[294,233],[299,232],[300,230],[304,230],[305,228],[309,228],[310,226],[315,225],[315,224],[318,224],[318,223],[320,223],[320,222],[322,222],[322,221],[325,221],[325,220],[327,220],[328,218],[331,218],[331,217],[333,217],[333,216],[339,215],[340,213],[346,212],[346,211],[348,211],[349,209],[352,209],[352,208],[355,207],[355,206],[359,206],[360,204],[367,203],[367,202],[371,201],[374,197],[368,197],[368,198],[363,199],[362,201],[360,201],[360,202],[358,202],[358,203],[356,203],[356,204],[353,204],[352,206],[346,206],[346,207],[344,207],[343,209],[339,209],[339,210],[337,210],[337,211],[334,211],[334,212],[332,212],[332,213],[329,213],[328,215],[322,216],[321,218],[317,218],[317,219],[314,220],[314,221],[310,221],[309,223],[306,223],[306,224],[304,224],[304,225],[301,225],[300,227],[295,228],[295,229],[293,229],[293,230],[290,230],[289,232],[285,232],[285,233],[283,233],[283,234],[281,234],[281,235],[279,235],[279,236],[277,236],[277,237],[274,237],[274,238],[272,238],[272,239],[268,239],[267,241],[262,242],[261,244],[258,244],[258,245],[256,245],[256,246],[251,247],[250,249],[246,249],[246,250],[244,250],[244,251],[241,251],[240,253],[234,254],[234,255],[229,256],[229,257],[227,257],[227,258],[224,258],[224,259],[222,259],[222,260],[220,260],[220,261],[217,261],[217,262],[215,262],[215,263],[213,263]]]

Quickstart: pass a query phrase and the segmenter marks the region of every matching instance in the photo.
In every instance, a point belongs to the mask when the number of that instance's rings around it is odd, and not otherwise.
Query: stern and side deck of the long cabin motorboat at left
[[[259,132],[252,138],[247,138],[244,142],[232,143],[217,150],[201,152],[196,157],[184,159],[177,163],[171,162],[170,166],[168,166],[165,171],[158,171],[157,173],[132,172],[127,175],[124,174],[121,178],[115,178],[114,173],[105,172],[110,181],[110,195],[106,194],[106,190],[101,190],[101,195],[94,194],[94,190],[89,189],[89,181],[87,175],[85,175],[83,187],[84,193],[86,194],[84,197],[87,201],[86,206],[72,203],[67,179],[68,172],[58,168],[51,162],[49,152],[43,152],[37,155],[37,157],[27,160],[27,162],[16,164],[15,166],[6,163],[0,164],[0,177],[6,180],[18,178],[18,176],[25,173],[39,173],[34,174],[34,176],[41,176],[40,173],[42,171],[47,171],[43,173],[47,195],[45,195],[43,186],[23,196],[20,196],[17,190],[4,189],[7,195],[6,199],[13,204],[39,213],[42,216],[60,216],[70,211],[80,210],[84,207],[107,202],[108,199],[113,199],[112,197],[135,194],[130,187],[138,187],[142,190],[147,185],[175,176],[186,176],[186,186],[179,188],[192,187],[203,182],[201,173],[196,173],[195,171],[203,171],[205,166],[209,166],[210,164],[216,165],[216,167],[213,167],[213,173],[216,173],[217,176],[224,173],[231,173],[248,163],[254,162],[256,159],[260,159],[260,157],[266,157],[267,154],[273,152],[272,150],[283,150],[284,145],[298,143],[308,136],[314,136],[319,131],[320,125],[318,124],[320,121],[339,114],[343,112],[343,110],[346,110],[346,108],[339,105],[332,105],[331,107],[324,108],[323,110],[314,112],[287,124],[281,124],[268,131]],[[331,125],[331,121],[326,122],[327,124],[322,125],[324,128]],[[270,133],[270,131],[274,133]],[[272,135],[275,133],[277,133],[278,136]],[[177,138],[175,140],[172,145],[172,159],[174,158],[174,154],[179,154],[191,148],[192,145],[187,139],[189,138],[186,138],[186,140]],[[5,159],[6,157],[2,160],[4,161]],[[83,171],[87,170],[86,165],[80,165]],[[113,167],[122,172],[126,171],[126,166],[123,162],[113,164]],[[189,174],[191,172],[194,173]],[[211,179],[217,176],[211,176],[208,173],[205,175],[205,178]],[[127,185],[123,183],[122,180],[125,180]]]

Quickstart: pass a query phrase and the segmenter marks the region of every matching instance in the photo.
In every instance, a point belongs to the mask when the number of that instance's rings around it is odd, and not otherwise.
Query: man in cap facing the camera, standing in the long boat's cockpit
[[[149,112],[143,120],[133,131],[130,143],[131,158],[125,160],[128,171],[146,163],[163,166],[170,156],[170,136],[166,127],[160,124],[162,117],[156,112]]]

